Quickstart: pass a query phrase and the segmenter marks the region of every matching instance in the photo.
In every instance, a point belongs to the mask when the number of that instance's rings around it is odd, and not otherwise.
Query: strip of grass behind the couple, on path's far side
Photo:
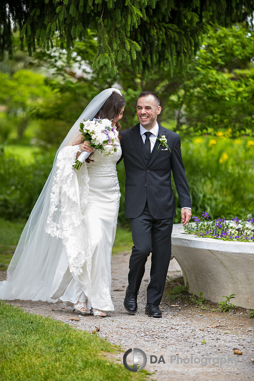
[[[6,221],[0,218],[0,271],[7,270],[25,224],[26,221]],[[117,227],[112,253],[131,250],[132,246],[131,232]]]

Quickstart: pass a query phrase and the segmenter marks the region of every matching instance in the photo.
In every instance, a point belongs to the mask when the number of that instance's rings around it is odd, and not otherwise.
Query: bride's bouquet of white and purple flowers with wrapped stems
[[[93,120],[84,120],[84,123],[80,123],[79,126],[82,140],[90,141],[90,147],[100,149],[104,156],[116,152],[117,131],[111,126],[110,120],[93,118]],[[73,167],[79,170],[90,153],[82,151]]]

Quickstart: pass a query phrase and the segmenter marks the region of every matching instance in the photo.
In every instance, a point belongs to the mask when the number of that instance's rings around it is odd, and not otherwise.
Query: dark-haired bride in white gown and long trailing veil
[[[79,124],[94,117],[119,130],[125,99],[115,88],[88,104],[59,147],[52,171],[0,282],[0,299],[63,301],[82,314],[106,316],[111,300],[111,252],[119,210],[116,162],[121,146],[105,157],[82,143]],[[81,151],[92,153],[77,171]]]

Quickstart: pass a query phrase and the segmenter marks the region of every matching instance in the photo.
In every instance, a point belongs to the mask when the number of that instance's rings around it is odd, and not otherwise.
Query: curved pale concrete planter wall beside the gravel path
[[[190,293],[214,302],[235,294],[230,303],[254,309],[254,243],[222,241],[183,234],[174,224],[172,258],[179,263]]]

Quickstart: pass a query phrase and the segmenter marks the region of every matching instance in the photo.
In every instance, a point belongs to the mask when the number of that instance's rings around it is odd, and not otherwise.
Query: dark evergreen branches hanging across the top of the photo
[[[96,30],[97,51],[92,69],[114,76],[116,59],[137,70],[156,66],[184,67],[199,47],[207,22],[230,26],[253,18],[254,0],[3,0],[0,13],[0,52],[11,51],[14,31],[20,30],[21,49],[53,48],[58,36],[68,61],[74,42],[86,41],[88,29]]]

